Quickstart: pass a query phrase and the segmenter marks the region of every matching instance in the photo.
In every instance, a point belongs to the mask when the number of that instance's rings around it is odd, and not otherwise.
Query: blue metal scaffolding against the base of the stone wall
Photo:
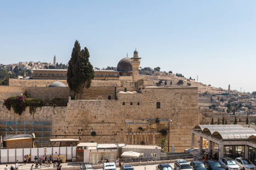
[[[18,135],[34,133],[37,148],[49,147],[51,139],[51,121],[0,121],[0,135]]]

